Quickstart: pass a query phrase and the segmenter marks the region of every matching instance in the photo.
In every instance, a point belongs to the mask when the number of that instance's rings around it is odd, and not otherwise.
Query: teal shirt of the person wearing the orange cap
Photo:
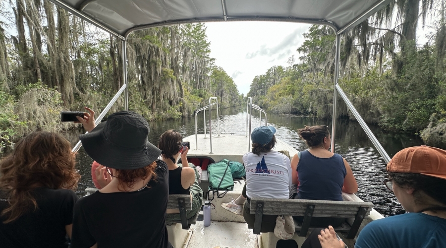
[[[407,213],[372,221],[355,248],[446,248],[446,219]]]

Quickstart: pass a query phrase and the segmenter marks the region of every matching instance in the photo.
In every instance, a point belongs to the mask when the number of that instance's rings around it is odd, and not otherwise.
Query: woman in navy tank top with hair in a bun
[[[290,198],[305,200],[342,201],[342,191],[356,193],[358,184],[350,165],[342,156],[328,151],[332,139],[326,125],[305,126],[298,129],[299,137],[310,149],[296,153],[291,160],[293,184],[297,193]],[[303,217],[296,217],[302,221]],[[312,218],[311,225],[338,226],[341,218]]]

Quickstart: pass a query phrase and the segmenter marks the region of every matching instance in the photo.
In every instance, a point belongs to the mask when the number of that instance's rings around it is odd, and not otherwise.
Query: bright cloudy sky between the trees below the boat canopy
[[[309,24],[285,22],[207,22],[211,58],[234,79],[240,94],[249,91],[255,76],[275,66],[288,66],[296,49],[304,42]]]

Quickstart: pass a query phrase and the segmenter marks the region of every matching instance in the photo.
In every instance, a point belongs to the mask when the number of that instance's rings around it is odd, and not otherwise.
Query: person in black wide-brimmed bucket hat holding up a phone
[[[157,159],[161,150],[148,141],[149,124],[137,113],[121,111],[94,126],[94,112],[86,110],[87,118],[78,120],[90,132],[79,138],[101,164],[96,176],[102,189],[76,202],[71,247],[171,248],[168,170]]]

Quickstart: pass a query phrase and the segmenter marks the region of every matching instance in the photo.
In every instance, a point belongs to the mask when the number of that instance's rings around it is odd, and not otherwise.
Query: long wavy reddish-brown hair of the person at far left
[[[9,206],[1,212],[9,223],[38,208],[31,191],[37,187],[76,189],[81,177],[74,170],[71,144],[54,132],[32,132],[19,140],[0,162],[0,190]]]

